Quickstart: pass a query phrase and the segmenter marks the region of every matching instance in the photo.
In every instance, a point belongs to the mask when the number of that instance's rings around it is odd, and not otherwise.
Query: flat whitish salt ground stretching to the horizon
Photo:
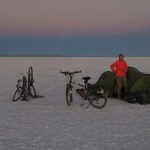
[[[149,150],[150,105],[108,99],[97,110],[81,107],[80,97],[65,103],[65,78],[60,70],[97,81],[116,58],[0,58],[0,150]],[[150,58],[126,58],[129,66],[150,73]],[[12,102],[20,73],[33,66],[41,99]]]

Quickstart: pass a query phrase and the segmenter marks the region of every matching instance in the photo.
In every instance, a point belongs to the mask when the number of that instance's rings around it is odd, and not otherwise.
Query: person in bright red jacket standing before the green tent
[[[116,73],[116,82],[117,82],[117,96],[119,99],[122,98],[121,89],[122,87],[127,89],[127,78],[126,72],[128,70],[127,62],[124,60],[124,55],[119,54],[119,60],[115,61],[113,64],[110,65],[112,71]]]

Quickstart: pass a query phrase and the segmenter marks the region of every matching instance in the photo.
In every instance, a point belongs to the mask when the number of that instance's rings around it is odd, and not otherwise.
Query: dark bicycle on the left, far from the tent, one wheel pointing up
[[[21,100],[29,100],[30,97],[36,97],[36,91],[34,88],[34,78],[33,78],[33,68],[29,67],[27,72],[27,77],[22,76],[22,79],[19,79],[16,85],[16,91],[13,96],[13,101]]]

